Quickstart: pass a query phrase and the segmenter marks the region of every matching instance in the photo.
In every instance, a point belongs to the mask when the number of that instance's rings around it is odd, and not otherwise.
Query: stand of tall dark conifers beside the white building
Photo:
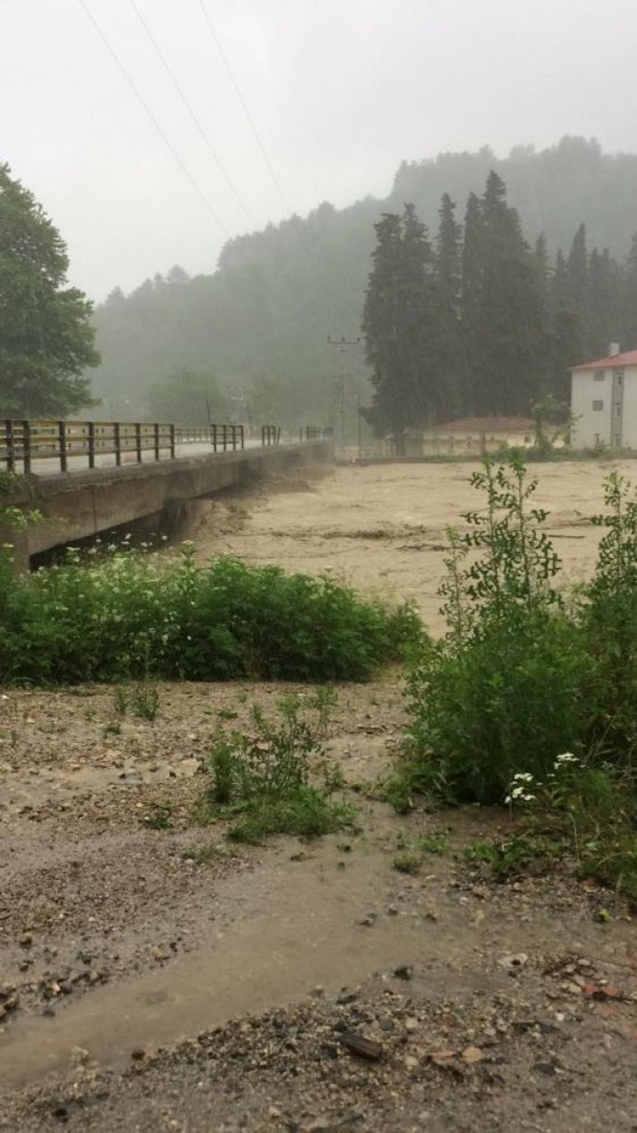
[[[432,238],[413,204],[374,225],[363,333],[372,370],[367,412],[400,445],[406,429],[487,415],[526,415],[569,398],[569,366],[637,347],[637,235],[627,261],[588,250],[580,224],[568,252],[532,247],[492,170],[464,221],[449,194]]]

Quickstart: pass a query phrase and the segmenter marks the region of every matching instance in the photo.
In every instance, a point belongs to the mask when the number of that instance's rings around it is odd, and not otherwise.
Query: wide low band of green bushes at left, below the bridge
[[[66,563],[19,579],[0,556],[0,680],[29,684],[365,680],[422,633],[409,605],[390,611],[277,566],[233,559],[202,566],[186,544],[169,562],[70,552]]]

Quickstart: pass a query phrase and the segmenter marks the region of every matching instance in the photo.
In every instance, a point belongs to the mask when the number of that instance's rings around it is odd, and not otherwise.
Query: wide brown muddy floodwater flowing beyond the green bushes
[[[444,573],[447,529],[483,506],[470,476],[479,466],[385,465],[321,469],[272,479],[248,501],[205,501],[192,527],[199,555],[231,553],[287,570],[331,573],[381,597],[415,598],[432,632],[440,632],[438,588]],[[603,479],[615,469],[637,483],[634,461],[530,465],[536,506],[564,564],[563,577],[589,576],[603,511]]]

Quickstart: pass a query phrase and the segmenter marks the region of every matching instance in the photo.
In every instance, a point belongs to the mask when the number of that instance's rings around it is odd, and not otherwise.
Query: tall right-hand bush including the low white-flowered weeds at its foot
[[[470,861],[504,879],[566,854],[637,903],[637,501],[608,477],[596,571],[567,600],[520,458],[486,460],[473,484],[486,508],[450,533],[449,631],[411,668],[385,795],[399,810],[416,792],[521,808],[528,828],[476,843]]]

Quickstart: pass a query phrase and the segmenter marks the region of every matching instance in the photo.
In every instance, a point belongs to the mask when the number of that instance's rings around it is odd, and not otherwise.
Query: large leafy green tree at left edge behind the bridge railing
[[[0,414],[56,416],[91,404],[92,305],[67,283],[66,246],[35,197],[0,165]]]

